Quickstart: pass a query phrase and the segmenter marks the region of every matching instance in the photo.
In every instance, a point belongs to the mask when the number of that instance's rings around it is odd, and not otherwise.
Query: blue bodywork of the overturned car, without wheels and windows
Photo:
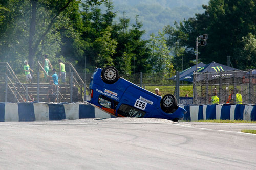
[[[161,107],[161,96],[158,96],[150,91],[147,91],[130,81],[125,80],[124,78],[119,78],[113,84],[107,84],[101,79],[101,68],[97,68],[94,74],[91,77],[90,89],[93,91],[93,96],[87,102],[92,103],[101,109],[105,109],[104,105],[100,104],[99,101],[104,98],[109,101],[116,103],[116,106],[112,106],[109,112],[117,117],[133,117],[125,116],[119,113],[122,113],[121,105],[127,105],[131,108],[135,108],[137,112],[143,112],[140,114],[140,117],[145,118],[164,118],[169,120],[178,120],[182,119],[186,110],[178,107],[178,109],[173,113],[165,113]],[[111,106],[110,106],[111,105]]]

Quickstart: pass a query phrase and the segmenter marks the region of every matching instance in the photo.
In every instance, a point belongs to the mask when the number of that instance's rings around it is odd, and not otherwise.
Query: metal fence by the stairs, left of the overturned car
[[[37,102],[48,102],[47,93],[49,93],[49,87],[52,85],[49,84],[48,79],[44,79],[44,75],[37,72],[33,75],[31,84],[23,82],[11,79],[8,72],[0,74],[0,102],[31,101],[30,94]],[[72,72],[67,73],[66,85],[60,80],[60,84],[56,86],[54,91],[56,102],[81,102],[84,100],[86,90],[86,84],[77,82]]]

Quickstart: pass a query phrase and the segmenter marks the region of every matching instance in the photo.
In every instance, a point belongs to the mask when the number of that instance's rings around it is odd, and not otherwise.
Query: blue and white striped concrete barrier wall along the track
[[[184,120],[228,119],[256,121],[254,105],[182,105]],[[111,118],[108,113],[84,103],[0,103],[0,122]]]

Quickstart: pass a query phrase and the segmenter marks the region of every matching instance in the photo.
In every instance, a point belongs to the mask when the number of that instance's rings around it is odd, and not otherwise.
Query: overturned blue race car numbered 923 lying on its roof
[[[97,68],[87,101],[116,117],[164,118],[177,122],[186,110],[172,94],[158,96],[118,76],[115,67]]]

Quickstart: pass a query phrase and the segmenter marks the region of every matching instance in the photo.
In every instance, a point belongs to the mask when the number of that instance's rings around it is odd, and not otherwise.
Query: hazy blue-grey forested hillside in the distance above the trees
[[[126,17],[135,23],[135,16],[139,15],[143,23],[142,29],[146,31],[143,38],[148,39],[151,33],[156,35],[164,26],[173,26],[174,21],[179,22],[195,17],[195,13],[203,13],[202,4],[208,5],[208,0],[113,0],[113,4],[117,11],[117,18],[123,17],[125,12]]]

